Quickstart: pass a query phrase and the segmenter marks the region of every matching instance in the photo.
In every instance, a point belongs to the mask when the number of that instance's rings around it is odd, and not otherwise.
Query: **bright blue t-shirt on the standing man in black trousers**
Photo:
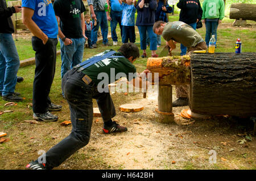
[[[22,0],[22,7],[34,10],[32,20],[49,38],[57,38],[59,28],[51,0]]]

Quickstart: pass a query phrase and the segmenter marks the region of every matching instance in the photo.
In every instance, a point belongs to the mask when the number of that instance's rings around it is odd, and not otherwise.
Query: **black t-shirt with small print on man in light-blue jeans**
[[[60,29],[66,37],[82,36],[81,13],[85,11],[82,0],[55,0],[55,15],[60,17]]]

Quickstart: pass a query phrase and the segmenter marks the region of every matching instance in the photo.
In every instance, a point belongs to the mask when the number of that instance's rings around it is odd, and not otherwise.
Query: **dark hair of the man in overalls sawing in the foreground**
[[[134,60],[139,57],[139,49],[134,43],[125,43],[117,51],[121,52],[125,58],[133,57]]]

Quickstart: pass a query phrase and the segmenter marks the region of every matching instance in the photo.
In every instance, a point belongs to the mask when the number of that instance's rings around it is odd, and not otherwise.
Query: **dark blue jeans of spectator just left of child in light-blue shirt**
[[[117,28],[117,23],[119,24],[120,30],[121,30],[121,37],[122,37],[122,11],[110,11],[110,28],[111,28],[111,36],[113,41],[117,41],[117,32],[115,32],[115,29]]]

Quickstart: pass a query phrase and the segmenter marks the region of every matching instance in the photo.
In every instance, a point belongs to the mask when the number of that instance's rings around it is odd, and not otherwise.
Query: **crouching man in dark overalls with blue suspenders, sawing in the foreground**
[[[88,144],[93,121],[93,102],[97,100],[98,108],[104,120],[104,133],[126,132],[112,118],[115,116],[115,107],[109,91],[102,91],[102,73],[108,74],[109,83],[115,81],[119,73],[125,74],[133,85],[146,87],[149,82],[143,81],[133,62],[139,57],[139,49],[133,43],[123,44],[118,52],[106,50],[69,70],[63,77],[61,88],[71,111],[72,131],[68,137],[53,146],[44,156],[45,163],[39,157],[26,167],[27,169],[42,170],[53,169],[59,166],[77,150]],[[114,71],[113,71],[114,70]],[[144,70],[143,73],[149,72]],[[114,76],[113,76],[114,73]],[[111,75],[112,74],[112,75]],[[133,77],[129,76],[133,74]],[[139,81],[139,83],[135,83]],[[108,86],[108,85],[107,85]],[[106,90],[106,89],[103,89]]]

